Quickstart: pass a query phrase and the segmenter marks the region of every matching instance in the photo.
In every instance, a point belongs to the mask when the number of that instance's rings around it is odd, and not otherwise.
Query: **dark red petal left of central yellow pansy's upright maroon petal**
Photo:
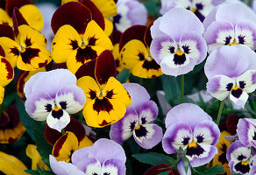
[[[92,59],[89,62],[83,64],[82,66],[79,67],[79,69],[75,73],[76,79],[78,80],[83,76],[90,76],[96,80],[95,67],[96,67],[96,59]]]

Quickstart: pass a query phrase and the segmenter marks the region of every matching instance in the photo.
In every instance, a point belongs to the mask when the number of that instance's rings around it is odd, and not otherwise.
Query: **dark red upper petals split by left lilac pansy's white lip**
[[[73,132],[75,134],[75,137],[77,137],[78,142],[81,142],[82,139],[86,136],[85,129],[83,128],[82,123],[80,123],[72,117],[70,117],[70,123],[68,123],[64,130]],[[48,125],[46,125],[45,137],[46,141],[49,144],[55,144],[61,136],[62,135],[58,130],[53,130],[50,127],[48,127]]]

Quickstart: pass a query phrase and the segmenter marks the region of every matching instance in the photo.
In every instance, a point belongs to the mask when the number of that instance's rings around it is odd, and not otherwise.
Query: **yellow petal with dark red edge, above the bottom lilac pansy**
[[[69,162],[71,155],[78,149],[78,140],[73,132],[67,131],[53,146],[53,157],[58,161]]]

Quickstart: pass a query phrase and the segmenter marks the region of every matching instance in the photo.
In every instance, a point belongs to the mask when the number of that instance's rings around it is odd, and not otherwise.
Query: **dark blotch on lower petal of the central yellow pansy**
[[[95,103],[93,104],[93,109],[96,110],[98,113],[101,111],[109,113],[113,109],[113,106],[110,101],[105,97],[103,97],[103,99],[96,98]]]

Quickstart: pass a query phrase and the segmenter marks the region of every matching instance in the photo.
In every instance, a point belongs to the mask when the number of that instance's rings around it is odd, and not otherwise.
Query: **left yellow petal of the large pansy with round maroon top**
[[[52,57],[57,63],[66,62],[69,54],[78,48],[82,38],[71,25],[63,25],[57,31],[52,43]]]

